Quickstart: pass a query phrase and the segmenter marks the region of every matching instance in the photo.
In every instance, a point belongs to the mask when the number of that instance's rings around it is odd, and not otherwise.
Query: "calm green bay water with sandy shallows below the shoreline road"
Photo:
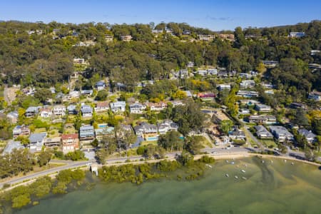
[[[92,190],[40,200],[15,213],[321,213],[321,170],[264,160],[245,158],[234,165],[217,161],[193,181],[97,183]]]

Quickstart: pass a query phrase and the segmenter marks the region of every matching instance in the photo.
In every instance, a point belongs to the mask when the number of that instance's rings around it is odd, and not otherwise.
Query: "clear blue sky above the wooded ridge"
[[[28,2],[28,3],[26,3]],[[0,20],[156,24],[186,22],[211,30],[280,26],[321,19],[320,0],[3,0]]]

